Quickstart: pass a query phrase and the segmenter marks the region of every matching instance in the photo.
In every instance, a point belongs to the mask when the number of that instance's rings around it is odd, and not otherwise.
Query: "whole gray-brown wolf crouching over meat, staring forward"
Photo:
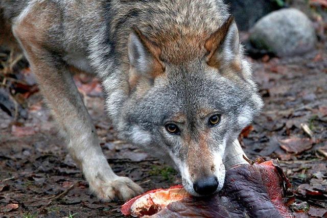
[[[237,138],[263,102],[222,0],[0,0],[0,8],[3,43],[12,34],[20,45],[100,199],[143,190],[110,168],[72,69],[100,78],[119,137],[174,164],[191,195],[219,191],[226,167],[244,163]]]

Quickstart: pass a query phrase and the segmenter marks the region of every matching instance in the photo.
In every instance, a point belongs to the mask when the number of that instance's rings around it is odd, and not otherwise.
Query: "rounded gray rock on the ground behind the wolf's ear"
[[[253,47],[278,57],[300,55],[315,47],[317,36],[311,20],[293,8],[274,11],[261,18],[250,31]]]

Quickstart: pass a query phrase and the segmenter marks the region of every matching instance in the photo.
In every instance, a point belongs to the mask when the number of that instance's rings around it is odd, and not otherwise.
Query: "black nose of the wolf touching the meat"
[[[194,190],[201,196],[213,194],[219,185],[217,177],[205,177],[198,179],[194,184]]]

